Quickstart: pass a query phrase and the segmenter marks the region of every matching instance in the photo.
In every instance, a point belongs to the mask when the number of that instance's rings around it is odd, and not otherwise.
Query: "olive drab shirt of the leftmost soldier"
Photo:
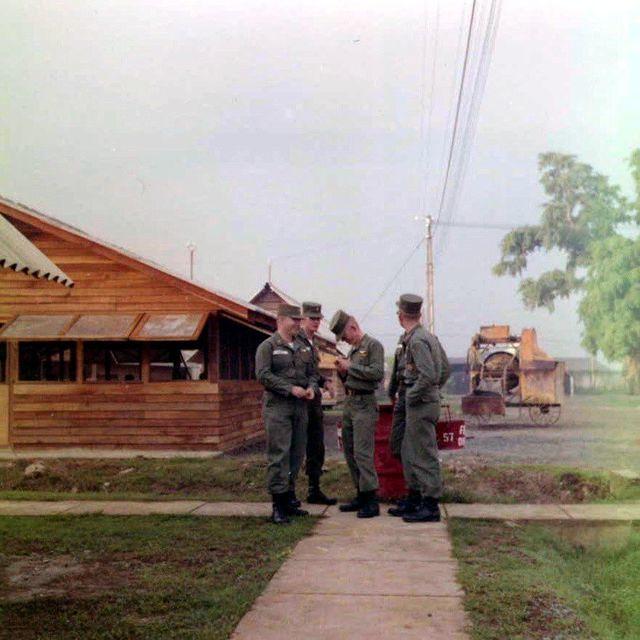
[[[256,378],[267,397],[294,397],[294,386],[319,393],[313,350],[296,338],[288,344],[277,331],[258,347]]]

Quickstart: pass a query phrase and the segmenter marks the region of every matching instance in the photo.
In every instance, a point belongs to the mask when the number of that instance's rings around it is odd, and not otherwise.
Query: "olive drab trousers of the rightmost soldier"
[[[410,490],[423,497],[442,496],[442,471],[438,459],[436,425],[440,402],[407,402],[407,421],[402,439],[402,468]]]

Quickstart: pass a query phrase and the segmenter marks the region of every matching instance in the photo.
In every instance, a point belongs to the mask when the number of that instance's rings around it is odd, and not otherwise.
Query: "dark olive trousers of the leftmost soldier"
[[[262,411],[267,431],[267,490],[278,494],[295,486],[307,446],[307,402],[267,394]]]

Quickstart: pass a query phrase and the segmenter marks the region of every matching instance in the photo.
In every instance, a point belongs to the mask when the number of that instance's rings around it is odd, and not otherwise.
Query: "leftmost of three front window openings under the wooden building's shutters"
[[[74,382],[76,345],[72,342],[21,342],[18,379],[24,382]]]

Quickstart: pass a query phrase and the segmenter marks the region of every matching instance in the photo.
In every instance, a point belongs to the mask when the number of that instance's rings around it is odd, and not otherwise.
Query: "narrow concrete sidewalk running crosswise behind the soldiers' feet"
[[[312,515],[339,515],[336,509],[321,505],[304,505]],[[487,520],[640,520],[640,503],[622,504],[445,504],[449,518]],[[383,509],[384,510],[384,509]],[[203,502],[198,500],[127,501],[127,500],[0,500],[0,516],[49,516],[77,514],[105,515],[196,515],[196,516],[264,516],[271,513],[267,502]]]

